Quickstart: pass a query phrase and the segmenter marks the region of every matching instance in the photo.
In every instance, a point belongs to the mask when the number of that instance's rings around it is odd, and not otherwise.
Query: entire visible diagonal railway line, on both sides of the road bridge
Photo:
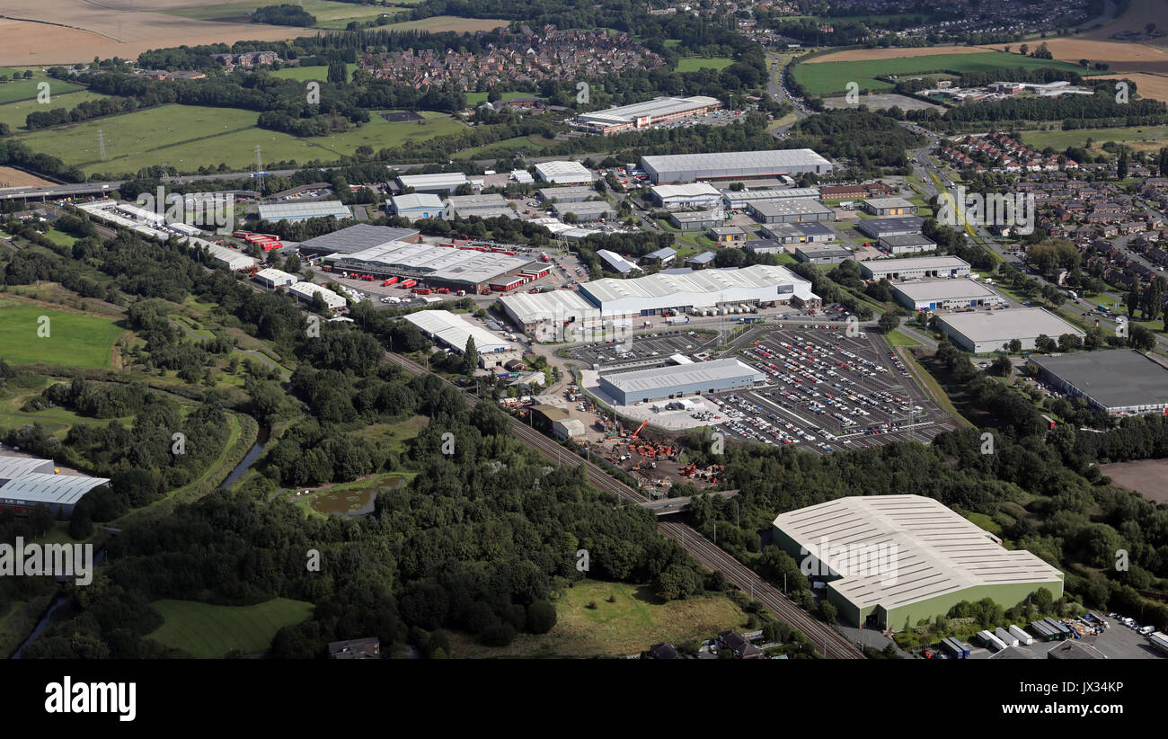
[[[385,358],[410,374],[430,374],[425,367],[411,359],[402,357],[401,354],[385,352]],[[446,380],[443,381],[451,387],[456,387]],[[458,388],[456,387],[456,389]],[[479,403],[479,399],[474,395],[468,393],[463,393],[463,395],[466,398],[467,405],[472,408]],[[529,444],[549,460],[562,460],[564,450],[559,447],[559,444],[555,443],[543,434],[523,426],[513,416],[508,415],[507,419],[512,426],[512,431],[524,443]],[[645,505],[648,503],[644,496],[639,495],[635,490],[620,481],[614,479],[599,465],[586,460],[578,461],[585,465],[589,482],[597,489],[611,492],[612,495],[631,503],[635,503],[637,505]],[[658,530],[666,537],[669,537],[681,544],[681,546],[702,565],[709,567],[710,569],[721,571],[728,580],[734,582],[744,593],[750,593],[755,599],[765,605],[776,616],[793,628],[802,631],[807,638],[812,641],[813,647],[823,651],[823,656],[828,659],[864,658],[863,652],[861,652],[839,631],[811,616],[807,612],[787,599],[781,592],[779,592],[778,588],[770,585],[758,576],[758,574],[752,569],[718,548],[716,545],[711,544],[697,530],[676,522],[658,522]]]

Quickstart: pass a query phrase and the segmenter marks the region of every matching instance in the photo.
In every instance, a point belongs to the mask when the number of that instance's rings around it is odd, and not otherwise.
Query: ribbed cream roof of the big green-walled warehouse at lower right
[[[975,586],[1062,581],[1063,573],[1024,550],[1007,550],[989,532],[913,495],[839,498],[780,514],[776,529],[833,571],[830,586],[858,608],[892,609]],[[830,553],[820,553],[826,544]],[[894,573],[849,574],[841,551],[891,552]]]

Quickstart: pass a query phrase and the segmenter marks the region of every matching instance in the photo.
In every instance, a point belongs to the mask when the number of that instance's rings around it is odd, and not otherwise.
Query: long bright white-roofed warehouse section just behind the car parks
[[[818,306],[811,283],[784,267],[703,269],[634,279],[593,279],[579,285],[584,299],[606,316],[658,316],[695,309],[795,304]]]

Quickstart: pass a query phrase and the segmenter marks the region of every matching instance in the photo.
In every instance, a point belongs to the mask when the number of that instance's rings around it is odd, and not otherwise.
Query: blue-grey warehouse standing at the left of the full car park
[[[765,382],[765,374],[737,359],[600,375],[600,389],[621,406],[662,398],[745,389]]]

